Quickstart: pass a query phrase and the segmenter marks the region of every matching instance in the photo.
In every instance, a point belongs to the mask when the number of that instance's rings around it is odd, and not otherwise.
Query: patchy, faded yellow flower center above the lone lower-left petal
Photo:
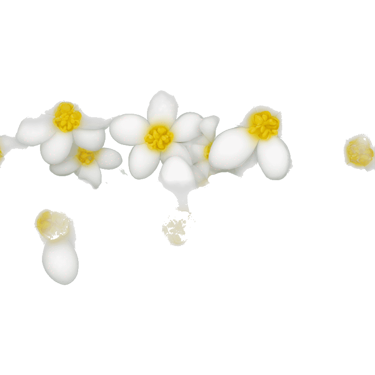
[[[43,237],[55,239],[68,231],[68,218],[65,214],[44,211],[37,219],[37,229]]]

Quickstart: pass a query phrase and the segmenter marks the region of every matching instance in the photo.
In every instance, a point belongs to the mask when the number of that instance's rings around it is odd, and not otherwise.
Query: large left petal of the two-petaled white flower
[[[244,127],[237,126],[223,131],[212,143],[209,164],[219,169],[238,167],[250,157],[257,142],[257,138]]]

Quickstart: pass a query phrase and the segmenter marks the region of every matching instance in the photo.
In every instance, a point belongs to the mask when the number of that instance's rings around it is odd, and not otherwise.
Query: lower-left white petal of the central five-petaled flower
[[[150,176],[158,167],[160,152],[150,150],[144,143],[134,146],[129,154],[129,171],[137,180]]]

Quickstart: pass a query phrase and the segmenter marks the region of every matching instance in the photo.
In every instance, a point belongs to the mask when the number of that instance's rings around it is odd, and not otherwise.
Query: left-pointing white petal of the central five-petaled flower
[[[121,145],[135,146],[145,143],[150,124],[139,115],[125,114],[116,117],[109,125],[109,134]]]

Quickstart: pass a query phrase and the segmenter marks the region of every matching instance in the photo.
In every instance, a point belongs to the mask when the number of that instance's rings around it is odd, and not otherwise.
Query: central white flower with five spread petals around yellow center
[[[139,115],[125,114],[109,125],[112,138],[121,145],[134,146],[129,154],[129,170],[136,179],[150,176],[171,156],[179,156],[191,166],[191,159],[181,142],[199,135],[202,116],[187,112],[177,120],[177,102],[165,91],[155,94],[147,109],[147,120]]]

